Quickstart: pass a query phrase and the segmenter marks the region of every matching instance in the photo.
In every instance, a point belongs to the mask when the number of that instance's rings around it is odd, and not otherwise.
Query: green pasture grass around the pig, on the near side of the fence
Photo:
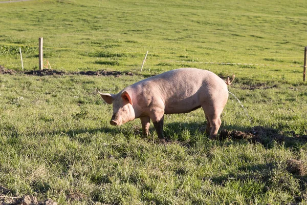
[[[166,116],[165,134],[172,139],[166,145],[157,142],[152,125],[142,138],[139,120],[109,125],[112,108],[97,90],[116,93],[139,79],[1,76],[0,183],[15,195],[60,204],[279,204],[304,196],[305,176],[286,169],[288,159],[306,160],[299,141],[210,140],[201,131],[201,109]],[[242,85],[230,90],[252,126],[306,134],[304,86],[289,92],[289,84],[250,91]],[[228,130],[251,127],[233,97],[222,120]]]

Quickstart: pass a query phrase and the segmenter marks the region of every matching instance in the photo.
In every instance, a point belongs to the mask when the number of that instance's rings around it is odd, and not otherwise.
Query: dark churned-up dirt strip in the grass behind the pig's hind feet
[[[289,136],[290,135],[290,136]],[[260,142],[261,144],[264,144],[265,141],[269,140],[275,140],[277,142],[307,142],[307,135],[297,135],[294,131],[291,132],[280,132],[278,130],[272,129],[272,128],[264,128],[261,126],[253,127],[251,130],[248,130],[246,132],[242,131],[228,131],[228,130],[221,130],[220,136],[218,136],[218,139],[224,140],[224,139],[233,139],[233,140],[240,140],[240,139],[246,139],[251,142]]]

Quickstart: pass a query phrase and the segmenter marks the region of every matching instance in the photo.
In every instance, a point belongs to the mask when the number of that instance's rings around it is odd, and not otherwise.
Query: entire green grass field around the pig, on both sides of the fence
[[[1,4],[0,65],[7,69],[21,70],[19,45],[37,46],[42,36],[52,69],[135,75],[0,75],[0,201],[29,194],[58,204],[307,204],[307,84],[302,67],[289,67],[303,64],[304,3]],[[25,69],[37,69],[37,47],[21,48]],[[117,93],[180,67],[235,73],[229,91],[252,121],[230,95],[221,129],[261,126],[260,140],[209,139],[201,109],[167,115],[166,144],[152,124],[142,137],[138,119],[108,124],[112,107],[97,91]]]

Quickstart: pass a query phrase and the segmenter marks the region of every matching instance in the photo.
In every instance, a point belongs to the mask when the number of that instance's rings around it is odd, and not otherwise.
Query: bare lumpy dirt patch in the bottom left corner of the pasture
[[[57,202],[52,199],[38,201],[36,197],[25,195],[23,197],[7,196],[11,191],[0,186],[0,204],[3,205],[57,205]]]

